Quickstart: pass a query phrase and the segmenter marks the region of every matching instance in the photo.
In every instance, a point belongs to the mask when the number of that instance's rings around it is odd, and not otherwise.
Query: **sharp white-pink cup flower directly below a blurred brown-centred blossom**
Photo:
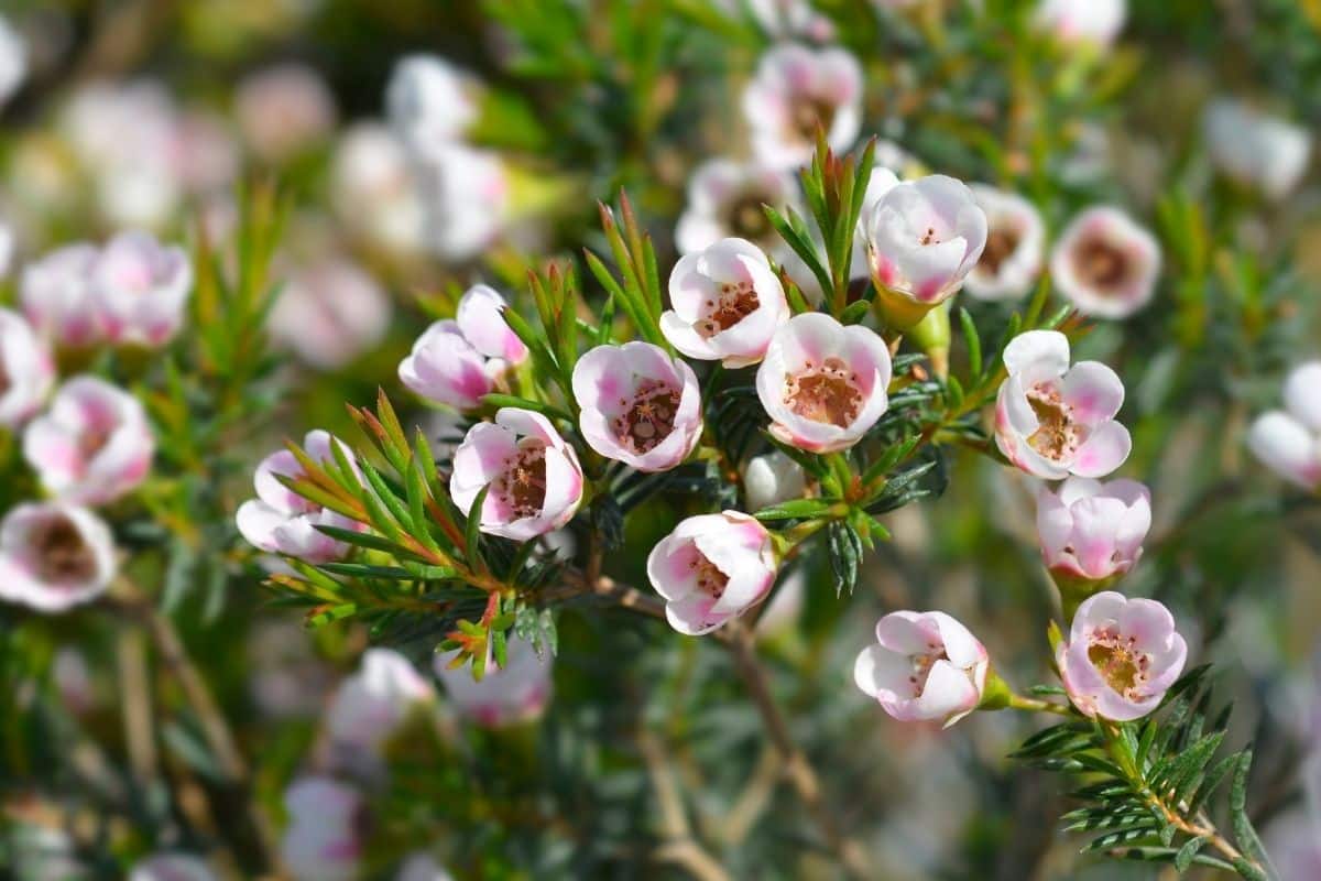
[[[660,332],[690,358],[746,367],[762,359],[775,329],[789,321],[785,288],[770,260],[746,239],[721,239],[679,258],[670,273]]]

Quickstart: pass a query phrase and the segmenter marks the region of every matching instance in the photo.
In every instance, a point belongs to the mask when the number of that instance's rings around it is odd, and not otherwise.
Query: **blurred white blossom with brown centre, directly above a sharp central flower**
[[[766,218],[769,205],[783,211],[798,202],[798,186],[785,170],[713,159],[688,181],[688,205],[675,227],[680,254],[703,251],[728,238],[746,239],[777,258],[787,250]]]

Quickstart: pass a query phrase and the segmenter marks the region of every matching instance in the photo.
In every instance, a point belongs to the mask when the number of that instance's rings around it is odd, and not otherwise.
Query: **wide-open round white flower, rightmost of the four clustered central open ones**
[[[770,432],[799,449],[828,453],[861,440],[889,405],[890,351],[861,325],[811,312],[790,318],[757,369]]]

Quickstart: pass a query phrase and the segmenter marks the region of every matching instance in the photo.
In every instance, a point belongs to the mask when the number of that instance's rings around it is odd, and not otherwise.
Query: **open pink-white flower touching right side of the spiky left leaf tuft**
[[[482,489],[481,528],[515,542],[552,532],[583,501],[583,468],[551,420],[503,407],[494,423],[477,423],[454,452],[449,494],[470,515]]]

